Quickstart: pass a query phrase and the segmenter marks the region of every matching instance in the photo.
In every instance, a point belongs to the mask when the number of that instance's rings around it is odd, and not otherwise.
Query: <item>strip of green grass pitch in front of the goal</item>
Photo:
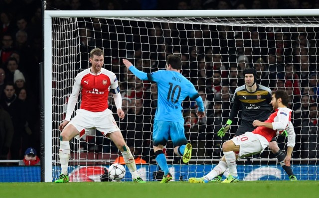
[[[0,183],[0,198],[318,198],[319,181]]]

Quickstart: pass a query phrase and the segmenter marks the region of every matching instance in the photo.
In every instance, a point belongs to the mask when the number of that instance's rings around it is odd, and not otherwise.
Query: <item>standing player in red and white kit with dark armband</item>
[[[104,52],[101,49],[93,49],[90,52],[89,61],[92,64],[91,68],[80,72],[75,77],[66,116],[59,126],[62,131],[59,148],[61,174],[55,183],[69,182],[67,171],[70,157],[69,141],[73,137],[80,139],[89,129],[97,129],[110,138],[121,151],[124,161],[132,174],[133,181],[145,183],[137,173],[134,157],[124,141],[112,111],[108,108],[108,95],[111,91],[117,107],[117,114],[120,118],[124,118],[125,114],[122,110],[122,97],[117,77],[113,72],[102,68],[104,65]],[[76,110],[76,116],[71,119],[80,92],[82,97],[81,105]]]

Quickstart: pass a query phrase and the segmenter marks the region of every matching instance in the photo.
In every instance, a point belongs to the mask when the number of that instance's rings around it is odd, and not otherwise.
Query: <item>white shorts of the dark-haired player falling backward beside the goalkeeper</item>
[[[269,145],[264,136],[252,132],[246,132],[231,139],[235,145],[239,145],[239,158],[262,153]]]

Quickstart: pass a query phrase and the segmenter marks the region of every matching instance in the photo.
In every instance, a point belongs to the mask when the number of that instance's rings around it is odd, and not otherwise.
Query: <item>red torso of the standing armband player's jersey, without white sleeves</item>
[[[94,75],[86,74],[81,79],[81,95],[82,101],[80,108],[92,111],[101,112],[109,107],[109,87],[111,80],[106,74]]]

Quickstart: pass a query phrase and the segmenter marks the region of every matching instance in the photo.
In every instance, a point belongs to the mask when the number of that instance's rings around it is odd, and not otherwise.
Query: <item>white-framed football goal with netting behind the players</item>
[[[96,47],[104,50],[104,68],[119,79],[126,118],[114,116],[136,160],[145,163],[137,165],[143,179],[155,181],[159,171],[151,141],[157,87],[135,78],[121,60],[127,58],[149,73],[164,69],[166,56],[173,53],[181,56],[181,73],[195,85],[207,109],[207,117],[198,119],[194,101],[183,102],[185,135],[193,151],[189,164],[183,164],[168,141],[165,155],[174,181],[202,177],[219,162],[221,145],[234,135],[241,111],[226,136],[218,137],[217,131],[228,119],[230,100],[244,85],[242,72],[248,67],[257,70],[257,83],[288,92],[296,131],[294,174],[301,180],[318,180],[316,10],[227,10],[232,17],[222,11],[45,11],[45,181],[60,173],[58,126],[74,78],[90,67],[89,52]],[[116,112],[114,107],[110,97],[109,108]],[[287,138],[278,137],[277,142],[287,151]],[[74,182],[100,181],[104,168],[121,154],[96,130],[70,144]],[[240,160],[238,172],[243,180],[288,179],[267,149]],[[128,169],[125,181],[131,181]]]

